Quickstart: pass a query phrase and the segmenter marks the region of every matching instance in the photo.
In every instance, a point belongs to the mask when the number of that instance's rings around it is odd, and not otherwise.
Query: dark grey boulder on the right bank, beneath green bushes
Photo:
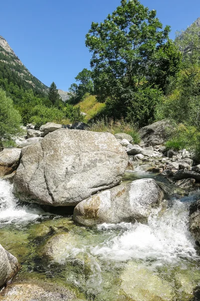
[[[167,140],[168,130],[171,128],[168,120],[160,120],[139,130],[140,146],[159,145]]]

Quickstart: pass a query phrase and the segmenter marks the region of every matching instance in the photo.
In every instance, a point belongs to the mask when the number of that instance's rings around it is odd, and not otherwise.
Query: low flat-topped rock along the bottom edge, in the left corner
[[[53,283],[19,282],[8,285],[0,295],[2,301],[70,301],[78,300],[69,289]]]

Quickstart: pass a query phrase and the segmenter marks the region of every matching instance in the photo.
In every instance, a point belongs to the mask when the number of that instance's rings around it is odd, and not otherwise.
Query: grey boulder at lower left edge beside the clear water
[[[0,244],[0,287],[12,279],[19,268],[20,264],[17,258]]]

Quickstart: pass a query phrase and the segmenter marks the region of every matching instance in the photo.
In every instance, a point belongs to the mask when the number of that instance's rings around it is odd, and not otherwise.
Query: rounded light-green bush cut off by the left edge
[[[14,108],[13,100],[0,89],[0,141],[4,144],[11,135],[20,132],[21,115]]]

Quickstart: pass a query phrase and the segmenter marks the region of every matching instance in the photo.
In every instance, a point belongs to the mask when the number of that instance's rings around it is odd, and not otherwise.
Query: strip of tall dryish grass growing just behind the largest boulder
[[[130,123],[125,122],[123,119],[114,121],[112,118],[101,118],[93,121],[89,124],[88,130],[103,132],[107,131],[113,135],[116,133],[126,133],[131,135],[133,142],[138,144],[140,142],[140,136],[137,130]]]

